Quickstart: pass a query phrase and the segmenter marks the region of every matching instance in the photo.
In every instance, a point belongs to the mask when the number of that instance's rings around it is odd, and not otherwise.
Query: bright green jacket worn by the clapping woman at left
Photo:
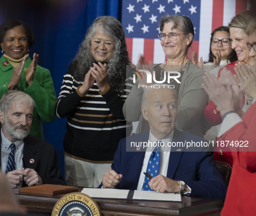
[[[5,64],[6,61],[7,65]],[[32,84],[28,86],[25,79],[25,73],[31,62],[31,58],[27,58],[25,61],[18,90],[30,95],[36,103],[29,134],[43,139],[42,120],[45,122],[52,122],[56,117],[54,111],[56,94],[50,71],[39,65],[36,66]],[[0,98],[8,91],[7,85],[12,78],[13,69],[13,66],[8,63],[8,60],[2,56],[0,58]]]

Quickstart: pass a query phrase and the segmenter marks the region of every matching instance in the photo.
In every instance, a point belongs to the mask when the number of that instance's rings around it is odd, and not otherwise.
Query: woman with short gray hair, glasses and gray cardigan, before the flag
[[[188,49],[194,38],[193,24],[187,16],[166,15],[161,18],[159,27],[161,33],[158,34],[158,38],[167,61],[154,65],[150,70],[152,76],[155,76],[154,78],[159,84],[168,84],[177,92],[176,128],[203,137],[206,129],[203,113],[208,103],[208,97],[201,87],[204,71],[194,65],[188,58]],[[138,68],[149,69],[143,57],[139,60]],[[168,79],[166,71],[176,71],[177,73],[172,72],[172,78]],[[148,122],[141,115],[144,92],[142,86],[150,87],[152,85],[146,82],[146,74],[143,74],[143,72],[141,74],[143,78],[136,80],[123,106],[123,113],[127,121],[135,122],[139,120],[137,133],[149,129]]]

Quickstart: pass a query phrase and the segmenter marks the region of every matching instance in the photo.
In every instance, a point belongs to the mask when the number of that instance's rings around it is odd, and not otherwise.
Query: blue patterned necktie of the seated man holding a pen
[[[161,141],[157,141],[157,142],[159,143]],[[159,146],[156,146],[156,148],[154,149],[154,151],[151,153],[149,157],[149,162],[146,170],[146,172],[152,177],[156,177],[159,173],[160,155],[161,155],[160,148]],[[145,176],[145,180],[141,190],[152,190],[149,187],[149,181],[150,179]]]

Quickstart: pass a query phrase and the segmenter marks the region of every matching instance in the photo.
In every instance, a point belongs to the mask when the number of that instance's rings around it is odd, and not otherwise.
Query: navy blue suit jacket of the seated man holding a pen
[[[145,151],[126,151],[131,142],[147,142],[149,131],[121,139],[114,155],[112,169],[123,177],[119,189],[136,190]],[[175,129],[172,142],[207,142],[200,137]],[[178,151],[177,151],[178,150]],[[207,197],[224,200],[227,186],[224,184],[211,152],[184,152],[182,148],[171,148],[167,177],[176,181],[185,181],[191,188],[192,197]],[[198,148],[199,150],[199,148]]]

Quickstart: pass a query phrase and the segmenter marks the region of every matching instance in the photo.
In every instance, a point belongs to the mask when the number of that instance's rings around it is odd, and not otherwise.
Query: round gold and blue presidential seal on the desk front
[[[97,203],[84,193],[68,193],[58,200],[52,216],[101,216]]]

